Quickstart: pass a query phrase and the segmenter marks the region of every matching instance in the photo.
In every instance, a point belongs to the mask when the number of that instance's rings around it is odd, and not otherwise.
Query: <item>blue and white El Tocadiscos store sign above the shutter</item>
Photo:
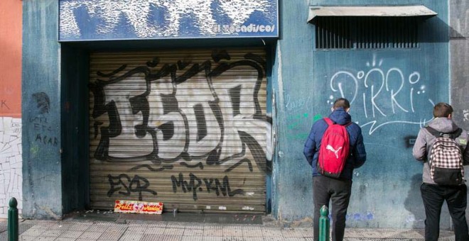
[[[278,37],[278,0],[60,0],[59,40]]]

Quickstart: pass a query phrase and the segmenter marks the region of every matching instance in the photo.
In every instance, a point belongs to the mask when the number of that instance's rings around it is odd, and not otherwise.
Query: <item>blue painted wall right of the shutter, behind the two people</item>
[[[315,50],[308,6],[344,1],[281,1],[281,40],[274,66],[278,145],[274,167],[274,214],[286,223],[311,221],[311,169],[303,144],[314,120],[332,102],[352,101],[368,159],[355,170],[348,227],[422,228],[421,164],[411,156],[414,138],[432,118],[433,103],[449,101],[448,3],[424,4],[438,16],[423,21],[420,45],[408,50]],[[383,1],[347,1],[379,5]],[[343,89],[340,91],[340,86]],[[444,212],[443,212],[444,213]],[[442,225],[449,227],[446,213]]]

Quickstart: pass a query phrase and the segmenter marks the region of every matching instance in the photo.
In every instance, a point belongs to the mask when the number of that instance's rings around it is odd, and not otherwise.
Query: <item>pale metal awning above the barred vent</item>
[[[436,16],[426,6],[310,6],[308,22],[318,16],[409,17]]]

